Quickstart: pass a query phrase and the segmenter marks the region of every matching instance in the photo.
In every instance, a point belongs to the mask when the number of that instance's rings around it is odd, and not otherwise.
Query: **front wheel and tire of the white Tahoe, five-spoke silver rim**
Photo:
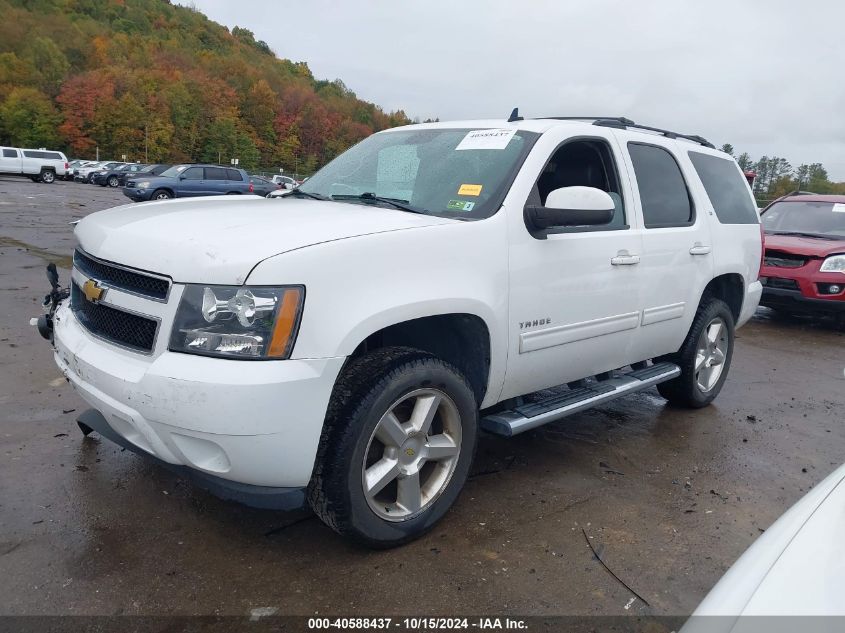
[[[367,547],[418,538],[463,488],[477,428],[473,391],[448,363],[409,348],[358,358],[335,385],[309,503]]]

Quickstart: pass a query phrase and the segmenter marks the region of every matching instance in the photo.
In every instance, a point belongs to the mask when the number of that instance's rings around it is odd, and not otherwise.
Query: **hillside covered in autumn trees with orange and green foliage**
[[[0,0],[0,143],[310,172],[408,123],[167,0]]]

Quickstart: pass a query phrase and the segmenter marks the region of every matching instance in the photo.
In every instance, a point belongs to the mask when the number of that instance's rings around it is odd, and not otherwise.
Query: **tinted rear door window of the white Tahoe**
[[[628,152],[637,176],[646,228],[692,224],[689,191],[672,154],[662,147],[642,143],[628,143]]]

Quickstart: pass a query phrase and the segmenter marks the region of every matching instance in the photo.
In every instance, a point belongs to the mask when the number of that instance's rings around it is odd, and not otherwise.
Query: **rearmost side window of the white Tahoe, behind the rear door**
[[[748,181],[736,163],[701,152],[690,152],[689,157],[719,222],[757,224],[757,209],[748,193]]]

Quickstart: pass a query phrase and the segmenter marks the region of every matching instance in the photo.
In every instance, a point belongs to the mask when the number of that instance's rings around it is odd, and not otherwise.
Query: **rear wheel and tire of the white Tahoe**
[[[657,385],[670,403],[700,409],[713,402],[731,366],[734,318],[727,304],[705,297],[681,349],[660,360],[677,364],[681,375]]]

